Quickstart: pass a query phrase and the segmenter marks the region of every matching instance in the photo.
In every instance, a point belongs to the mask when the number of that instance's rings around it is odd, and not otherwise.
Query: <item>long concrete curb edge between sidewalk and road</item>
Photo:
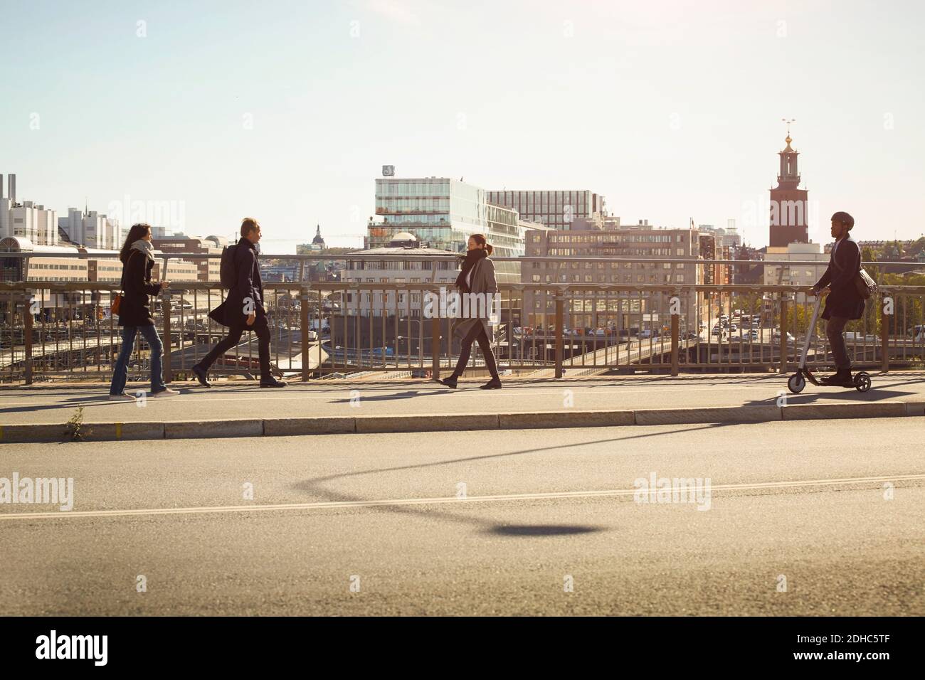
[[[925,415],[925,402],[800,403],[787,406],[709,406],[671,408],[546,411],[512,414],[340,415],[317,418],[182,420],[166,423],[84,423],[82,439],[208,439],[291,437],[388,432],[459,432],[469,430],[559,427],[619,427],[677,424],[766,423],[780,420],[891,418]],[[0,426],[0,443],[63,442],[67,426],[56,423]]]

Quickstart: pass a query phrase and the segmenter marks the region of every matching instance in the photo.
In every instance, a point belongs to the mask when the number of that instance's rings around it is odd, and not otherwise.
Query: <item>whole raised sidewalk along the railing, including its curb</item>
[[[107,401],[105,384],[52,383],[0,389],[0,441],[61,440],[64,424],[80,406],[83,427],[93,431],[88,439],[760,422],[925,411],[921,371],[871,374],[873,387],[866,394],[811,385],[790,394],[786,377],[512,378],[498,390],[478,389],[481,379],[463,380],[455,390],[424,380],[297,382],[285,389],[227,380],[213,389],[173,383],[180,390],[176,397],[135,403]],[[129,389],[136,386],[144,384]],[[21,439],[27,435],[40,439]]]

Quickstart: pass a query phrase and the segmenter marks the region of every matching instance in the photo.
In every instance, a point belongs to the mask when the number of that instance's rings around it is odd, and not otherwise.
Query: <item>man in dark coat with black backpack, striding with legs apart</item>
[[[270,327],[266,321],[264,284],[260,278],[260,264],[255,248],[258,241],[260,224],[253,217],[245,217],[240,223],[240,241],[228,246],[222,253],[221,279],[223,287],[228,287],[228,297],[209,313],[209,317],[227,326],[228,336],[220,340],[199,364],[192,367],[193,374],[203,387],[212,387],[207,379],[210,366],[218,357],[238,345],[245,330],[253,330],[257,334],[260,387],[286,387],[286,383],[277,380],[270,372]]]

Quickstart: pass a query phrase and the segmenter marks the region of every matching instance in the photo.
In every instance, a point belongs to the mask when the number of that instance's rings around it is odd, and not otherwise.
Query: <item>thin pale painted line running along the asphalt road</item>
[[[807,479],[784,482],[755,482],[750,484],[712,484],[710,492],[716,490],[744,490],[756,488],[806,488],[844,486],[850,484],[879,484],[882,482],[923,481],[925,475],[895,475],[868,477],[839,477],[834,479]],[[282,510],[330,510],[336,508],[375,508],[380,506],[436,505],[446,503],[472,503],[490,501],[542,501],[548,499],[575,499],[594,497],[632,496],[636,488],[605,489],[601,491],[554,491],[549,493],[514,493],[495,496],[440,496],[437,498],[383,499],[378,501],[318,501],[313,503],[277,503],[268,505],[217,505],[193,508],[143,508],[136,510],[88,510],[49,513],[0,513],[3,520],[69,519],[76,517],[126,517],[155,514],[207,514],[207,513],[255,513]]]

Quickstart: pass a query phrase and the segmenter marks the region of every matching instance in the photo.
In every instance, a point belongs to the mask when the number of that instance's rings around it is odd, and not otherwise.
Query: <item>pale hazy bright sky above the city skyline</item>
[[[768,242],[786,126],[810,239],[925,232],[915,2],[0,0],[18,200],[362,246],[383,165],[582,189],[624,223]],[[137,221],[137,220],[133,220]],[[168,225],[169,226],[169,225]]]

